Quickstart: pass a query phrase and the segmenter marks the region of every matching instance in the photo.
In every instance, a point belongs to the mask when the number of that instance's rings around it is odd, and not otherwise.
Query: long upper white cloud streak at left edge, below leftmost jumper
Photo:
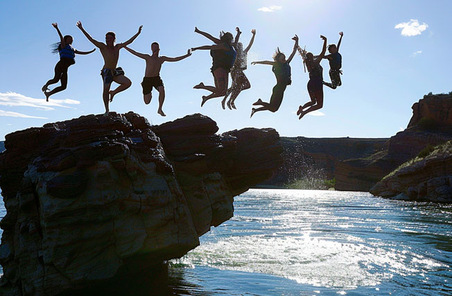
[[[55,110],[55,107],[73,108],[67,105],[78,105],[80,101],[71,100],[66,98],[64,100],[50,99],[46,102],[45,98],[31,98],[24,96],[23,94],[17,94],[15,92],[0,92],[0,105],[10,107],[33,107],[40,110]],[[41,117],[38,117],[41,118]]]

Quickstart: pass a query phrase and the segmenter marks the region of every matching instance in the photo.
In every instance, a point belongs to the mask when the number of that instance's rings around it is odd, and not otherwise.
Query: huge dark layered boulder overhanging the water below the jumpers
[[[6,136],[1,295],[56,295],[183,256],[281,166],[279,135],[129,112]]]

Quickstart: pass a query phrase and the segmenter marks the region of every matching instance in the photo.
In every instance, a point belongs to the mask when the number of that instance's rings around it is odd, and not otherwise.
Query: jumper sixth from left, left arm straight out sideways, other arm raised
[[[293,37],[292,39],[295,40],[295,44],[293,46],[293,51],[287,60],[286,55],[284,55],[284,53],[281,53],[281,51],[279,51],[278,49],[275,55],[273,55],[274,60],[273,62],[262,61],[251,63],[251,64],[270,64],[272,66],[273,73],[275,73],[277,83],[273,87],[270,103],[265,103],[259,98],[259,100],[257,100],[256,103],[252,104],[254,106],[261,105],[262,107],[252,108],[250,118],[254,115],[254,113],[258,111],[268,110],[270,112],[277,112],[279,106],[281,106],[284,91],[286,90],[286,87],[292,83],[292,81],[290,80],[289,63],[293,59],[293,56],[295,55],[295,52],[297,51],[298,47],[298,36],[295,35],[295,37]]]

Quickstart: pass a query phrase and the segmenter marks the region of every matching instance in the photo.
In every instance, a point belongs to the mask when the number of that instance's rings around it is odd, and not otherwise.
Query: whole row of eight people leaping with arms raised
[[[49,101],[49,97],[57,92],[61,92],[67,87],[67,70],[69,66],[75,64],[75,56],[76,54],[87,55],[89,53],[94,52],[96,49],[92,49],[92,51],[78,51],[72,47],[73,37],[70,35],[65,35],[63,37],[60,29],[58,28],[58,24],[53,23],[52,26],[57,30],[58,35],[60,36],[60,42],[53,44],[53,53],[60,54],[60,61],[55,65],[55,75],[54,77],[47,81],[46,84],[42,87],[42,92],[46,96],[46,101]],[[211,94],[208,96],[202,96],[201,107],[209,101],[211,98],[223,97],[223,101],[221,102],[223,109],[227,106],[229,109],[236,109],[234,101],[236,100],[238,94],[244,89],[249,89],[251,87],[250,80],[245,76],[245,71],[247,69],[247,53],[250,51],[251,46],[254,42],[254,37],[256,35],[256,30],[252,30],[252,37],[248,46],[243,49],[243,44],[238,42],[241,31],[239,28],[236,28],[236,37],[234,38],[232,33],[224,33],[223,31],[220,33],[220,38],[216,38],[209,33],[200,31],[195,27],[195,33],[203,35],[207,37],[209,40],[214,42],[213,45],[205,45],[198,46],[189,49],[186,55],[181,55],[176,58],[168,58],[166,56],[159,55],[159,44],[157,42],[153,42],[151,44],[152,55],[148,55],[145,53],[139,53],[134,51],[128,47],[141,33],[140,26],[138,32],[130,37],[129,40],[123,43],[115,44],[116,35],[114,32],[107,32],[105,34],[105,43],[94,40],[85,28],[83,28],[81,21],[78,21],[76,26],[80,28],[80,31],[87,37],[87,39],[92,42],[100,51],[103,56],[104,65],[101,69],[101,76],[103,80],[103,103],[105,105],[105,116],[110,112],[109,104],[113,101],[113,98],[119,92],[123,92],[125,89],[128,89],[132,82],[129,78],[125,76],[125,73],[121,67],[117,67],[117,63],[119,60],[119,50],[124,48],[133,55],[136,55],[139,58],[142,58],[146,61],[146,70],[144,74],[143,81],[141,82],[141,86],[143,88],[143,96],[144,103],[149,104],[152,99],[152,90],[155,88],[157,92],[159,92],[159,107],[157,113],[161,116],[166,116],[162,110],[164,99],[165,99],[165,89],[163,85],[162,78],[160,78],[159,73],[162,68],[162,64],[164,62],[176,62],[179,60],[183,60],[184,58],[188,58],[192,51],[197,50],[209,50],[210,55],[212,57],[212,67],[211,73],[214,76],[215,86],[207,86],[204,85],[203,82],[200,82],[198,85],[195,85],[194,89],[205,89]],[[308,69],[309,73],[309,82],[308,82],[308,94],[311,98],[311,101],[304,105],[300,105],[297,111],[297,115],[299,119],[302,119],[304,115],[308,112],[312,112],[314,110],[318,110],[323,106],[323,85],[327,85],[332,89],[336,89],[336,87],[342,84],[340,80],[340,75],[342,71],[340,68],[342,67],[342,56],[339,53],[340,42],[342,40],[342,32],[340,34],[340,39],[338,45],[331,44],[328,46],[329,55],[325,55],[327,51],[327,38],[324,36],[320,36],[322,40],[324,40],[323,49],[320,55],[314,56],[312,53],[306,51],[306,49],[301,49],[298,45],[298,37],[295,35],[292,39],[295,41],[293,46],[293,51],[290,54],[289,58],[286,60],[286,55],[277,49],[275,55],[273,55],[273,61],[260,61],[260,62],[252,62],[251,64],[270,64],[272,65],[272,71],[275,73],[277,84],[273,87],[272,96],[270,97],[270,102],[266,103],[259,98],[259,100],[252,105],[261,106],[254,108],[252,107],[251,116],[255,112],[268,110],[271,112],[276,112],[279,109],[279,106],[282,103],[282,99],[284,96],[284,91],[288,85],[291,84],[290,78],[290,65],[289,63],[292,61],[296,51],[299,51],[299,54],[302,56],[305,71]],[[320,66],[320,62],[322,59],[329,60],[330,71],[329,76],[331,78],[331,82],[324,82],[322,71],[323,68]],[[231,73],[232,78],[232,86],[228,88],[228,79],[229,73]],[[50,90],[49,85],[55,84],[58,81],[61,81],[60,87],[55,87]],[[112,82],[116,82],[119,84],[118,87],[114,90],[110,90]],[[230,96],[230,97],[229,97]],[[229,100],[227,98],[229,97]]]

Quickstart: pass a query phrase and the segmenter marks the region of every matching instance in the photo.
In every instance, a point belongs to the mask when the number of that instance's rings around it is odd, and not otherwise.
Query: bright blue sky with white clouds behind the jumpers
[[[243,32],[247,45],[251,29],[256,39],[248,55],[245,74],[252,88],[236,100],[238,110],[223,110],[220,98],[200,107],[206,91],[193,85],[214,80],[208,51],[195,51],[180,62],[166,62],[161,76],[166,89],[164,112],[157,114],[157,93],[145,105],[140,82],[144,60],[121,50],[119,66],[132,80],[132,87],[118,94],[110,105],[115,112],[134,111],[153,124],[200,112],[214,119],[220,132],[245,127],[275,128],[282,136],[304,137],[391,137],[406,128],[411,106],[428,92],[452,91],[452,1],[0,1],[0,140],[5,135],[48,122],[64,121],[85,114],[102,114],[103,66],[101,53],[78,55],[69,68],[64,92],[45,102],[41,87],[53,77],[58,55],[49,45],[58,42],[51,26],[58,22],[64,35],[72,35],[80,51],[94,48],[76,21],[99,41],[114,31],[116,41],[128,40],[140,25],[141,35],[130,48],[150,52],[159,42],[161,55],[177,56],[193,46],[210,44],[195,34],[203,31],[218,35],[223,31]],[[399,25],[396,28],[396,26]],[[259,112],[250,119],[251,104],[268,101],[275,85],[270,66],[250,65],[254,60],[270,60],[277,46],[289,54],[294,34],[308,51],[320,53],[320,34],[328,43],[344,37],[342,87],[324,88],[324,107],[299,121],[295,112],[308,101],[302,60],[296,55],[292,85],[276,113]],[[329,80],[327,61],[322,62],[324,80]],[[316,115],[316,116],[314,116]]]

